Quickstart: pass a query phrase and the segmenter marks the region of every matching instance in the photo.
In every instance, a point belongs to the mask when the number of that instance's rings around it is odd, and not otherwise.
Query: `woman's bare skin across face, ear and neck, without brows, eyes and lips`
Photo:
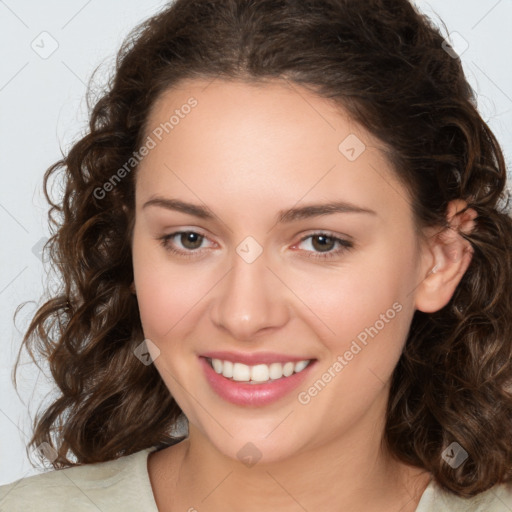
[[[134,293],[145,337],[159,350],[154,364],[190,424],[185,441],[149,457],[159,509],[415,510],[430,476],[381,448],[390,377],[415,309],[450,300],[469,244],[455,229],[418,238],[409,194],[381,143],[325,99],[285,81],[182,82],[155,103],[148,134],[191,96],[197,106],[151,149],[136,182]],[[349,135],[366,146],[354,161],[338,148]],[[214,218],[144,208],[155,196],[206,206]],[[282,210],[331,201],[375,213],[276,222]],[[463,207],[452,202],[448,218],[469,230],[475,212],[456,215]],[[205,236],[192,257],[158,240],[180,230]],[[301,240],[319,231],[353,247],[309,258],[322,246]],[[248,236],[263,249],[252,263],[236,251]],[[187,251],[179,236],[170,245]],[[339,248],[327,245],[331,254]],[[298,392],[393,304],[394,318],[300,403]],[[209,387],[198,360],[209,350],[318,363],[297,392],[242,407]],[[261,456],[251,467],[237,458],[249,442]]]

